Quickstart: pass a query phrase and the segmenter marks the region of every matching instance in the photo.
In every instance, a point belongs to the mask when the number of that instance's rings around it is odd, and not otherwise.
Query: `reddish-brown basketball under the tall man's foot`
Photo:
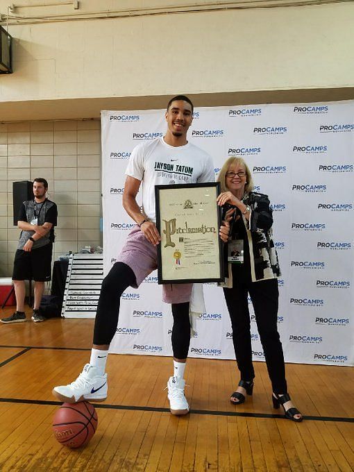
[[[53,418],[54,436],[68,448],[85,446],[94,435],[98,421],[91,403],[63,403]]]

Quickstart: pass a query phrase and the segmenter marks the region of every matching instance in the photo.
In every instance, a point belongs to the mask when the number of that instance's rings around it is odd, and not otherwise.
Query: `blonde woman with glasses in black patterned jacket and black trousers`
[[[239,405],[253,393],[251,321],[248,294],[255,312],[255,321],[262,342],[264,357],[273,388],[273,407],[283,406],[285,416],[302,421],[287,394],[283,347],[277,329],[278,280],[280,269],[274,248],[271,226],[272,210],[267,195],[252,192],[251,171],[242,158],[229,158],[219,178],[221,194],[218,204],[224,208],[221,227],[226,245],[226,283],[224,295],[231,325],[233,344],[241,380],[230,401]],[[227,237],[226,235],[229,235]]]

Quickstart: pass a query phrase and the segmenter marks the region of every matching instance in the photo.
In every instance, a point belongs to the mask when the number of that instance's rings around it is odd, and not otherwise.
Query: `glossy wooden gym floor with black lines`
[[[305,415],[294,423],[273,410],[263,362],[255,362],[253,397],[235,407],[235,362],[190,359],[192,411],[177,417],[164,390],[170,357],[110,355],[108,399],[94,404],[96,434],[85,448],[60,446],[51,389],[88,361],[92,327],[76,319],[0,323],[1,472],[354,470],[354,378],[344,366],[287,364],[289,391]]]

